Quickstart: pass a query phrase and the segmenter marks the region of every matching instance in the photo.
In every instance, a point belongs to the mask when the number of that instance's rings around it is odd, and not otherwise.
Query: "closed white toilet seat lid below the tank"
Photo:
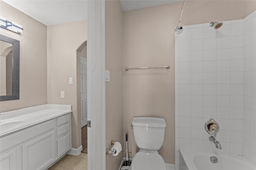
[[[131,170],[166,170],[160,154],[137,152],[132,159]]]

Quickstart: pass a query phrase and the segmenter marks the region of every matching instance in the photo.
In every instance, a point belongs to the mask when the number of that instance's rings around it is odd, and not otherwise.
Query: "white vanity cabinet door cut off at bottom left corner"
[[[16,170],[16,149],[10,149],[0,157],[0,170]]]

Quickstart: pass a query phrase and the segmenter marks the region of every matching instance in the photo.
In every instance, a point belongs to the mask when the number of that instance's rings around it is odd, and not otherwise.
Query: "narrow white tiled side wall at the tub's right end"
[[[256,164],[256,12],[244,18],[242,155]]]

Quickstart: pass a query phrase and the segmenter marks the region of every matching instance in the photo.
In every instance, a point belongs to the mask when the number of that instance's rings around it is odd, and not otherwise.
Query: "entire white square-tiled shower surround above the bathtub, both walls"
[[[179,149],[243,154],[248,160],[255,156],[255,14],[224,21],[218,30],[204,23],[184,26],[176,34],[176,169]],[[210,118],[220,125],[216,139],[222,150],[215,148],[204,130]],[[250,144],[243,141],[245,136]]]

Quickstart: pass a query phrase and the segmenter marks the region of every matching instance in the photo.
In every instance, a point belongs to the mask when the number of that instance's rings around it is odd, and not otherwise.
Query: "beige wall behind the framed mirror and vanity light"
[[[3,1],[0,15],[24,28],[20,35],[0,28],[0,34],[20,41],[20,100],[0,102],[0,112],[47,104],[46,25]]]

